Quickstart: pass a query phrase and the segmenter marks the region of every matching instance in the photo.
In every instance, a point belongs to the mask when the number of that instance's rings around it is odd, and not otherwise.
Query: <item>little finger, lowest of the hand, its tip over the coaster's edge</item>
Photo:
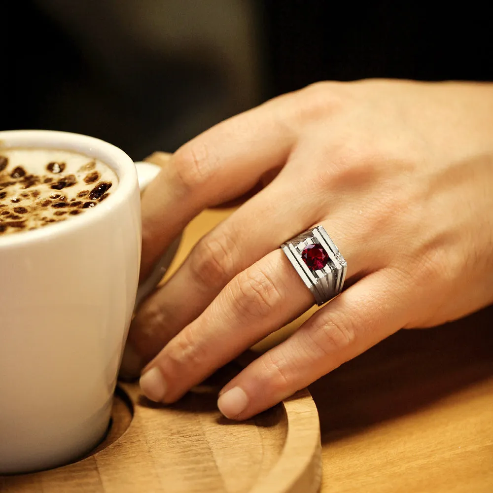
[[[403,327],[414,306],[403,279],[381,270],[356,282],[229,382],[219,393],[220,411],[247,419]]]

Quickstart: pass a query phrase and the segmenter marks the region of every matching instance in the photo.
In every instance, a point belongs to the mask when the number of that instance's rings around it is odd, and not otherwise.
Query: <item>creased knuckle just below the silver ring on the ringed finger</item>
[[[233,297],[240,317],[267,316],[282,303],[282,294],[267,273],[251,267],[234,280]]]

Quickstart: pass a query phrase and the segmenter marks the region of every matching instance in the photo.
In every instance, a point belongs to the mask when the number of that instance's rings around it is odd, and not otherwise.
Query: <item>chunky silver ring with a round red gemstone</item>
[[[322,226],[295,236],[281,248],[318,306],[342,291],[348,263]]]

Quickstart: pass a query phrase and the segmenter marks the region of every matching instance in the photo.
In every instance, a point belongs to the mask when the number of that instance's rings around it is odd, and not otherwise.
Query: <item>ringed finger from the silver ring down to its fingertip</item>
[[[229,282],[147,365],[142,390],[153,400],[175,401],[313,303],[282,251],[271,252]]]

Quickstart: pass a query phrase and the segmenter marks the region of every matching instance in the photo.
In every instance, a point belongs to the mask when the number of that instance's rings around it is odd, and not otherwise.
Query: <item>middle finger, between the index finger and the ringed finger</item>
[[[282,181],[269,188],[202,238],[173,277],[142,303],[129,331],[123,373],[140,373],[231,279],[316,220],[303,209],[305,197],[286,200]],[[259,220],[264,217],[269,221]]]

